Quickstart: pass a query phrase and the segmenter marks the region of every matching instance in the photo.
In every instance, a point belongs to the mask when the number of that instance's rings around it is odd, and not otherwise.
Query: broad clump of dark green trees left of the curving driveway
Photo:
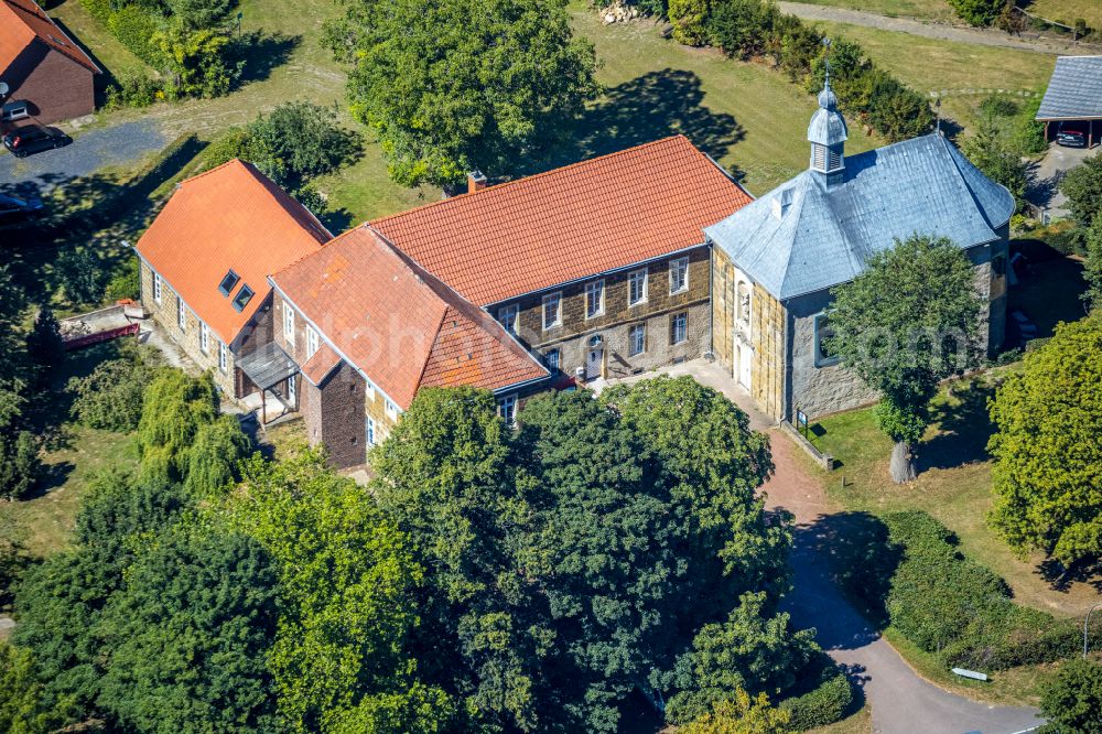
[[[790,537],[754,498],[768,447],[688,378],[543,395],[518,420],[488,392],[422,390],[372,454],[372,493],[425,568],[419,657],[468,730],[615,731],[633,690],[678,690],[692,634],[739,594],[774,614]]]

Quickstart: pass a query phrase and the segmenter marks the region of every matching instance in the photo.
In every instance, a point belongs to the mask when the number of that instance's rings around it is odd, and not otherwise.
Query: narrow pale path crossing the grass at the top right
[[[1000,46],[1018,51],[1034,51],[1042,54],[1092,53],[1089,46],[1057,39],[1023,39],[996,29],[979,29],[940,23],[923,23],[910,18],[888,18],[863,10],[813,6],[806,2],[778,2],[780,9],[806,20],[835,21],[853,25],[866,25],[882,31],[898,31],[941,41],[976,43],[984,46]]]

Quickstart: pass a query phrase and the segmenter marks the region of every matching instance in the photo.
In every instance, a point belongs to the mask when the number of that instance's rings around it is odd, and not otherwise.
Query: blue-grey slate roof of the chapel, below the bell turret
[[[791,204],[782,216],[782,192]],[[931,234],[962,248],[994,240],[1014,213],[1011,193],[939,134],[845,159],[842,183],[804,171],[705,234],[779,300],[853,280],[896,239]]]

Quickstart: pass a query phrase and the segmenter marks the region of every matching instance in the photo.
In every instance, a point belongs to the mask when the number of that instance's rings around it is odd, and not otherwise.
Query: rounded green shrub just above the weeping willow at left
[[[107,431],[134,431],[141,419],[142,395],[160,365],[152,347],[123,342],[117,359],[96,365],[87,377],[74,377],[73,415],[84,425]]]

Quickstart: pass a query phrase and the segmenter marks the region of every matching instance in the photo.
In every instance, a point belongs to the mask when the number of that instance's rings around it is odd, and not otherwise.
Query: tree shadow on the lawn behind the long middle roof
[[[606,90],[574,127],[573,137],[519,173],[529,175],[674,134],[685,136],[713,159],[746,137],[737,120],[704,106],[696,74],[666,68]],[[736,179],[738,171],[731,172]]]

